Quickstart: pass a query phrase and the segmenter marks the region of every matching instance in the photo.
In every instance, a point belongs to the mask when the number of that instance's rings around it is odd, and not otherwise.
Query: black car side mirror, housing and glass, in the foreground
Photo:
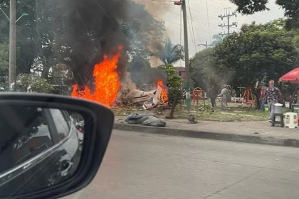
[[[0,198],[61,198],[84,188],[113,123],[110,109],[96,102],[1,92]]]

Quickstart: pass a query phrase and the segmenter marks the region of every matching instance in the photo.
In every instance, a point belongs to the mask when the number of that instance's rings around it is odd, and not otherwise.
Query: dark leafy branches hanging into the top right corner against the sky
[[[230,0],[236,4],[237,11],[241,14],[254,14],[258,11],[268,11],[268,0]],[[298,1],[276,0],[276,4],[285,10],[288,17],[285,23],[287,28],[299,27],[299,4]]]

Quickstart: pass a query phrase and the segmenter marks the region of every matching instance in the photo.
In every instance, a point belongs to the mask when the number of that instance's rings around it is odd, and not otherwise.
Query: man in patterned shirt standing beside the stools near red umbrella
[[[281,99],[281,92],[278,87],[274,86],[274,81],[269,81],[269,87],[266,88],[266,96],[269,105],[269,122],[273,121],[273,114],[275,109],[275,104],[278,103],[278,100]]]

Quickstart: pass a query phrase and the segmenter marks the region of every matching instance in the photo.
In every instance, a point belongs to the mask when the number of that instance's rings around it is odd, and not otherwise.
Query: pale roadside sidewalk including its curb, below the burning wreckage
[[[114,129],[169,136],[299,147],[299,129],[271,127],[269,122],[199,121],[196,124],[190,124],[184,119],[167,119],[166,127],[147,127],[127,124],[125,118],[116,117]]]

